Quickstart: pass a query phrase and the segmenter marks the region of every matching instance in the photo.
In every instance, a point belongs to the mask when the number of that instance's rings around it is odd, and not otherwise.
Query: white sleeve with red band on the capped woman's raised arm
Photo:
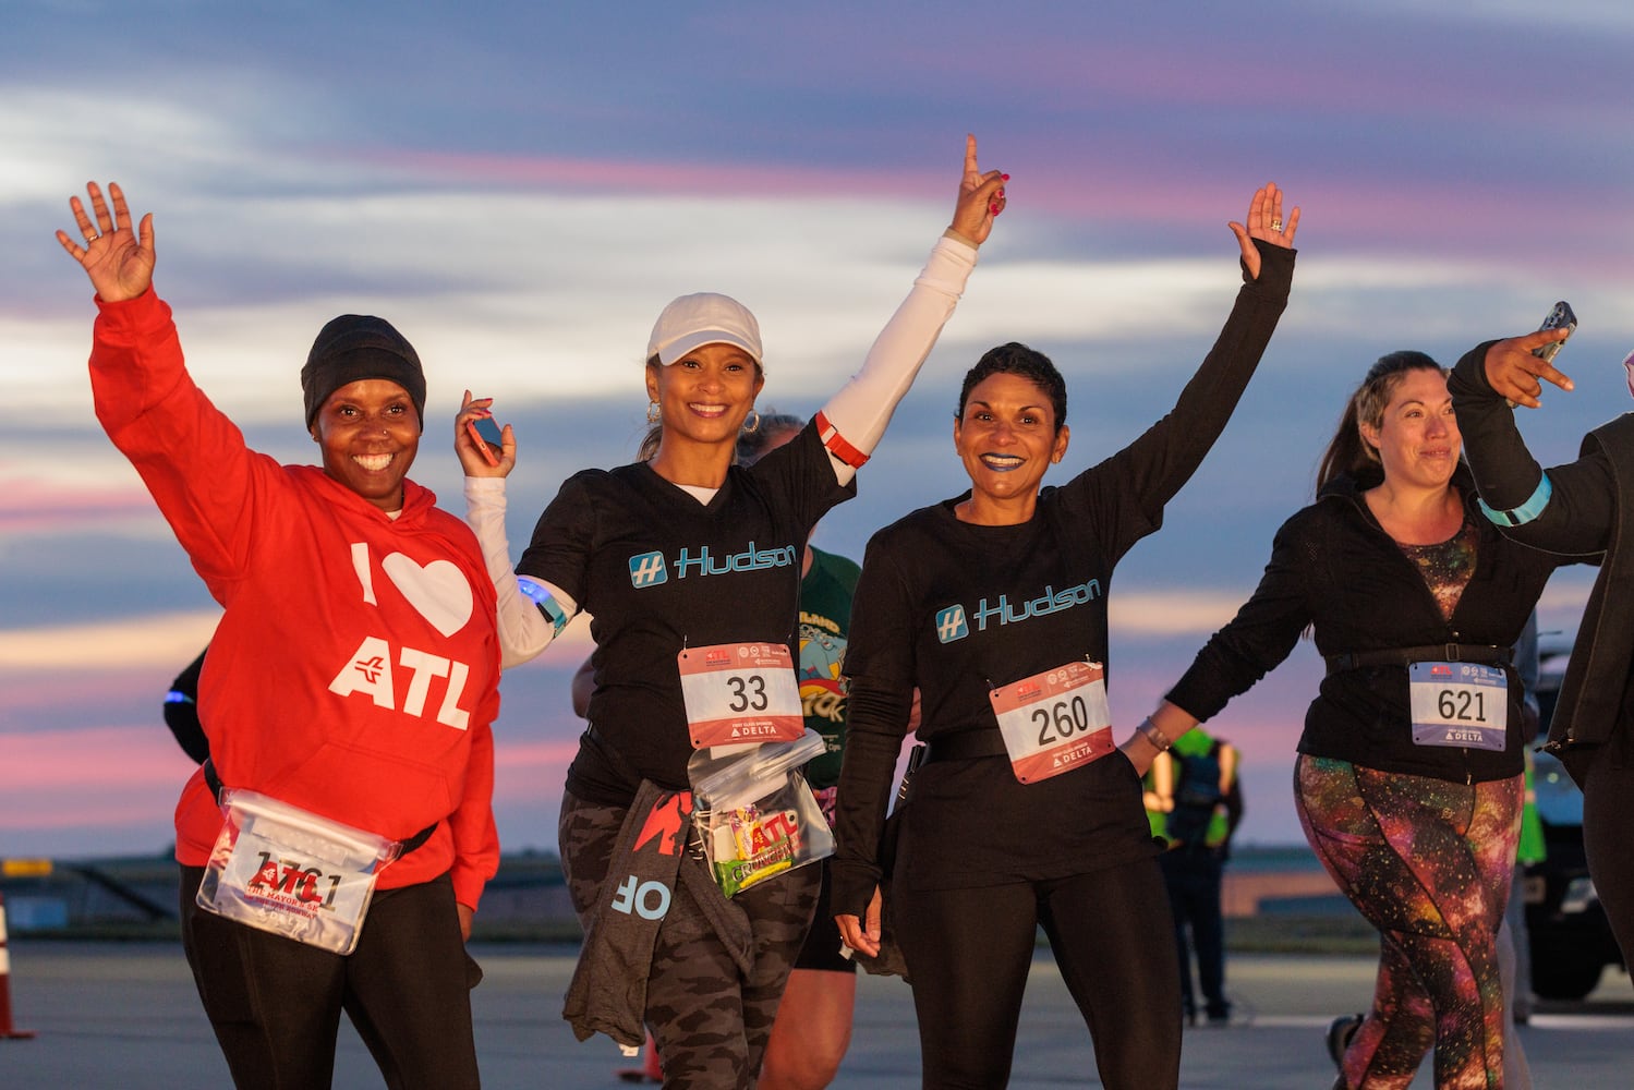
[[[856,466],[835,451],[843,453],[851,446],[863,456],[874,453],[886,425],[891,423],[891,415],[897,410],[897,402],[913,386],[920,366],[941,335],[941,327],[953,317],[972,268],[975,268],[975,247],[946,235],[938,240],[923,271],[913,281],[913,291],[874,338],[863,369],[822,407],[833,430],[832,438],[828,435],[824,438],[840,484],[850,484],[856,476]]]

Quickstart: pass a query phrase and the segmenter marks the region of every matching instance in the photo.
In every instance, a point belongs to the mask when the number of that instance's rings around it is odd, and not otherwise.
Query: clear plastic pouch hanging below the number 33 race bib
[[[801,765],[824,752],[822,735],[794,742],[717,745],[693,753],[693,822],[716,882],[732,897],[757,882],[833,855]]]

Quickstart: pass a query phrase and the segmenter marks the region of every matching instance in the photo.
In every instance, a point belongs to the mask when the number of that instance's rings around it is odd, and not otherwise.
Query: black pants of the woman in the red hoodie
[[[477,1087],[471,987],[480,971],[446,874],[376,891],[346,956],[204,912],[194,902],[203,874],[181,868],[181,941],[235,1087],[328,1087],[342,1010],[392,1090]]]

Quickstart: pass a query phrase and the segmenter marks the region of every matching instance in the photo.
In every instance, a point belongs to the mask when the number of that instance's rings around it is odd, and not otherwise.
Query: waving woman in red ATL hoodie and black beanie
[[[322,467],[248,449],[152,291],[152,216],[132,230],[108,198],[92,183],[80,240],[57,232],[96,288],[96,417],[224,610],[211,757],[176,804],[216,1039],[239,1087],[327,1087],[346,1010],[387,1085],[475,1087],[464,938],[498,864],[500,652],[475,539],[407,477],[420,360],[382,319],[328,322],[301,371]]]

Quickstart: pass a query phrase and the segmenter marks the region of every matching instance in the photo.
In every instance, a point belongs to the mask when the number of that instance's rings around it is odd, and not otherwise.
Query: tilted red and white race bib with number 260
[[[1105,677],[1098,662],[1069,662],[989,693],[1016,780],[1049,780],[1116,748]]]

